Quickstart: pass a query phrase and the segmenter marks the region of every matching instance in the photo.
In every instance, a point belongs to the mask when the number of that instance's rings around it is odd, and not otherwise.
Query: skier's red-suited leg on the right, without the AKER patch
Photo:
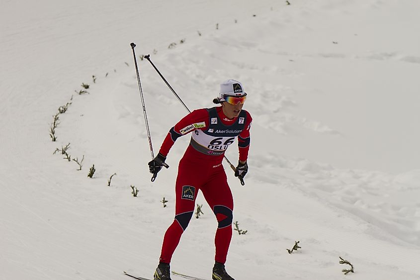
[[[233,197],[223,167],[218,168],[211,180],[201,188],[201,191],[218,221],[214,240],[215,261],[224,264],[232,239]]]

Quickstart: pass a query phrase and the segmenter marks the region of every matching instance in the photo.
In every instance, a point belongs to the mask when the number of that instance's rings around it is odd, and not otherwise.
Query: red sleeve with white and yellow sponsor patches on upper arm
[[[168,156],[169,150],[172,148],[176,139],[196,129],[206,129],[208,125],[209,112],[207,109],[198,109],[192,111],[169,130],[168,135],[162,143],[161,150],[159,152],[165,157]]]

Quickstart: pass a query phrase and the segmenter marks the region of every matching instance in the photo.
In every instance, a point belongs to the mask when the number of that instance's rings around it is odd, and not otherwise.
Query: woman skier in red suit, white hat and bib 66
[[[249,112],[242,110],[246,98],[247,93],[240,82],[225,81],[220,85],[219,97],[213,100],[221,106],[197,109],[182,118],[169,130],[159,154],[149,162],[150,172],[157,174],[176,139],[192,132],[190,144],[179,161],[175,219],[165,233],[154,280],[170,280],[169,263],[194,212],[198,190],[218,221],[212,279],[234,280],[224,265],[232,239],[233,197],[222,160],[228,146],[238,137],[239,163],[235,176],[242,179],[247,174],[252,118]]]

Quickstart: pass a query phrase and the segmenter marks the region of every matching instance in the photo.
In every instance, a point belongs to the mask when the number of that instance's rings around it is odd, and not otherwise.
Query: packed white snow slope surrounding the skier
[[[187,111],[141,55],[191,110],[227,79],[249,94],[245,186],[225,164],[248,230],[235,279],[419,279],[420,2],[289,2],[3,1],[0,279],[153,275],[189,136],[152,183],[131,42],[155,154]],[[197,203],[171,268],[210,279],[217,222]]]

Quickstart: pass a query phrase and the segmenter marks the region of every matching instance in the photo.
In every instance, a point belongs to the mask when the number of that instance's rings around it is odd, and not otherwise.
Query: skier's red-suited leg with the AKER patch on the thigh
[[[192,176],[194,173],[190,171],[180,163],[175,185],[175,219],[165,233],[160,257],[160,261],[164,263],[170,263],[173,252],[194,212],[199,183]]]

